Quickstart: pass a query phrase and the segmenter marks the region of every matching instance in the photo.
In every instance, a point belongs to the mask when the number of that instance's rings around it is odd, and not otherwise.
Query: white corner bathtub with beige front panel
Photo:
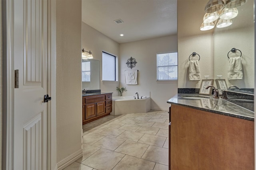
[[[112,112],[110,114],[146,113],[150,107],[150,97],[134,99],[133,96],[114,96],[112,97]]]

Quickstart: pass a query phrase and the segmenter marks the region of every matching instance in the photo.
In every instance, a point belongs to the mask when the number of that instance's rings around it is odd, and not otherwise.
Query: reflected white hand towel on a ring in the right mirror
[[[241,57],[232,57],[228,59],[228,80],[243,79],[243,66]]]

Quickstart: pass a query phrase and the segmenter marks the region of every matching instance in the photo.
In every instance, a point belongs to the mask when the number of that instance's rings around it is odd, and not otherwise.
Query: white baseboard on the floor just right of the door
[[[63,170],[68,165],[72,164],[73,162],[78,160],[78,158],[81,158],[82,156],[83,156],[82,149],[78,150],[77,152],[74,152],[70,156],[68,156],[68,157],[62,159],[60,162],[58,162],[58,164],[57,164],[58,170]]]

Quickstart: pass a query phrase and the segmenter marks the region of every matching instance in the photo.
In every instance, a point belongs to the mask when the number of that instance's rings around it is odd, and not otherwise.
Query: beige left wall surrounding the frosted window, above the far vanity
[[[102,92],[114,92],[117,94],[116,86],[119,82],[102,82],[102,51],[119,57],[119,43],[108,38],[96,29],[82,22],[82,49],[91,51],[93,58],[100,61],[100,89]],[[80,50],[82,50],[80,49]],[[118,60],[119,61],[119,60]]]

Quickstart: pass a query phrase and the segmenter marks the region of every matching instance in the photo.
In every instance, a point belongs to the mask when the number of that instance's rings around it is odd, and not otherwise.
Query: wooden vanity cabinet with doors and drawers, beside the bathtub
[[[112,94],[83,96],[82,101],[83,125],[110,115],[112,111]]]

